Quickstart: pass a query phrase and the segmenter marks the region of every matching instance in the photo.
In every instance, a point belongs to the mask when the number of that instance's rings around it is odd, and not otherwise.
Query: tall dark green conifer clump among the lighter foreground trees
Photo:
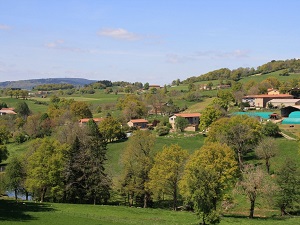
[[[73,203],[105,203],[111,186],[105,172],[106,141],[93,119],[82,129],[66,153],[65,199]]]

